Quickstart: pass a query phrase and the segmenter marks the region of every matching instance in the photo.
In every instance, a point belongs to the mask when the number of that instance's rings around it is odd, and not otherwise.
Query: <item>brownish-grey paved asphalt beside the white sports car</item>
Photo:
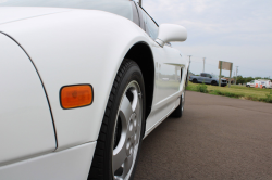
[[[135,180],[272,180],[272,104],[186,92],[143,142]]]

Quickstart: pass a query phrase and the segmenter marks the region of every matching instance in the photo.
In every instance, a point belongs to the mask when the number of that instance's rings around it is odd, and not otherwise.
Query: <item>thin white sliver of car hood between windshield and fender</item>
[[[60,8],[0,7],[0,25],[36,16],[71,11]]]

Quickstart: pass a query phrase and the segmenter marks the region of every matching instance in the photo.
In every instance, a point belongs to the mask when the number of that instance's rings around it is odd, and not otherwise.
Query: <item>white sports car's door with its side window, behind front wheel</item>
[[[140,13],[144,29],[149,36],[156,65],[152,112],[147,119],[146,127],[148,130],[175,108],[175,101],[173,101],[172,98],[175,97],[175,94],[178,95],[176,99],[180,98],[178,93],[182,90],[181,77],[182,73],[184,74],[185,72],[183,70],[185,68],[185,61],[182,59],[181,52],[173,49],[171,44],[160,47],[154,41],[159,27],[144,9],[140,9]]]

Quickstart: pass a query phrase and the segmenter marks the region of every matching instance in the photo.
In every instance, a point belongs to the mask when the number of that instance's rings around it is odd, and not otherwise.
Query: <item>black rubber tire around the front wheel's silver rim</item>
[[[110,97],[108,100],[108,104],[106,107],[102,125],[100,128],[99,137],[97,140],[97,146],[94,154],[92,163],[89,170],[88,180],[112,180],[112,153],[113,153],[113,133],[114,127],[116,124],[116,115],[119,112],[119,105],[121,103],[121,99],[126,86],[132,81],[137,81],[141,90],[143,98],[143,116],[141,119],[145,119],[145,85],[143,80],[143,75],[138,65],[132,60],[124,60],[121,64],[118,75],[114,79]],[[131,173],[131,178],[133,179],[135,173],[135,167],[138,160],[138,154],[140,152],[141,140],[145,131],[145,120],[141,121],[141,130],[139,138],[139,145],[136,155],[136,160],[134,168]]]

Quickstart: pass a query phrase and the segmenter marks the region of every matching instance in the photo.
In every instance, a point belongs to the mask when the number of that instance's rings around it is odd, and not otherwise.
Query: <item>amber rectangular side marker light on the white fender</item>
[[[90,105],[94,91],[90,85],[74,85],[61,88],[60,101],[63,108],[75,108]]]

